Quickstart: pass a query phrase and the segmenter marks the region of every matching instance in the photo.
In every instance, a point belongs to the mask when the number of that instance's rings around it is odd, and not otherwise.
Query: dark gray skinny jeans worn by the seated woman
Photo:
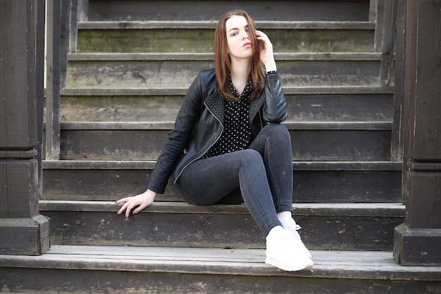
[[[290,133],[268,124],[248,149],[194,161],[177,185],[190,204],[244,202],[266,236],[280,226],[278,212],[292,212],[292,182]]]

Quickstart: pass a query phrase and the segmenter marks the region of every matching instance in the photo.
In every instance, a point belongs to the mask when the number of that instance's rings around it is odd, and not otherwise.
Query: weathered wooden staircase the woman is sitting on
[[[147,188],[187,87],[213,66],[216,22],[232,8],[274,44],[308,271],[263,263],[265,241],[244,205],[194,207],[168,185],[144,212],[116,214],[115,200]],[[391,153],[394,88],[380,80],[373,8],[89,0],[61,92],[61,160],[43,163],[51,250],[2,256],[0,292],[441,293],[440,267],[392,258],[402,163]]]

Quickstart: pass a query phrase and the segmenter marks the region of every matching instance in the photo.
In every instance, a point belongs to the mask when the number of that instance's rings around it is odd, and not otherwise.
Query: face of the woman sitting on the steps
[[[248,37],[248,22],[243,16],[232,16],[225,22],[228,53],[237,59],[249,59],[253,48]]]

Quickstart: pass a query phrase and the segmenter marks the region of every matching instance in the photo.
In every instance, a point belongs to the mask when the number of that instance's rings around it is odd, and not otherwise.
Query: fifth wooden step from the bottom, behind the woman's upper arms
[[[68,88],[61,121],[175,121],[187,88]],[[392,121],[390,87],[283,87],[288,121]]]

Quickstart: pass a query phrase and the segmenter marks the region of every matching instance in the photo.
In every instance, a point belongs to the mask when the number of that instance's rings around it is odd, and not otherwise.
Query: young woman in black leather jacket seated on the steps
[[[214,56],[215,68],[186,94],[148,190],[118,200],[118,214],[148,207],[171,177],[190,204],[244,202],[266,237],[266,263],[308,269],[311,255],[292,219],[292,150],[280,125],[287,113],[273,45],[245,11],[231,11],[216,27]]]

